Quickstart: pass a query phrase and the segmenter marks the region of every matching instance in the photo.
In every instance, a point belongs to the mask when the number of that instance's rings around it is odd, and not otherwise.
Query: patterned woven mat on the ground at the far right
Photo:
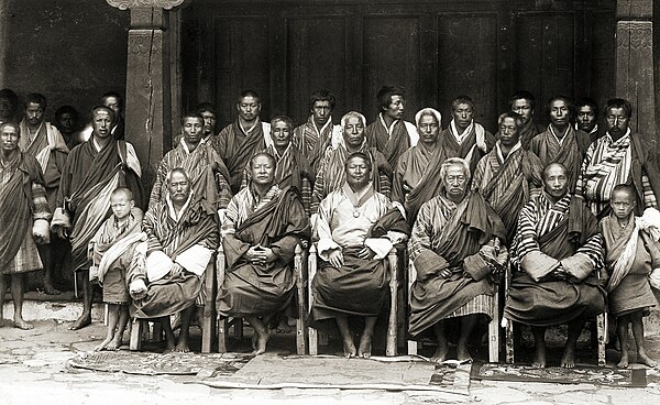
[[[647,385],[645,369],[608,369],[597,366],[576,366],[546,369],[519,364],[475,363],[471,377],[475,380],[524,381],[560,384],[594,384],[607,386],[640,387]]]

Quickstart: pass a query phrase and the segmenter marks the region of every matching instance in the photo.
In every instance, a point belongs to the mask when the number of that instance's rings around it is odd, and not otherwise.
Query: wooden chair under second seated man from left
[[[298,319],[296,321],[296,352],[298,354],[305,354],[307,352],[307,340],[306,340],[306,319],[305,319],[305,315],[306,315],[306,306],[305,306],[305,297],[306,297],[306,291],[305,291],[305,278],[304,278],[304,274],[306,273],[304,271],[304,256],[305,256],[305,252],[306,250],[304,249],[304,247],[306,245],[306,242],[302,241],[300,244],[298,244],[296,247],[296,251],[295,251],[295,255],[294,255],[294,278],[295,278],[295,283],[296,283],[296,291],[297,291],[297,296],[298,296],[298,300],[297,300],[297,306],[298,306]],[[224,250],[222,248],[222,243],[220,243],[220,247],[218,248],[218,263],[220,263],[220,265],[217,269],[217,280],[218,280],[218,288],[220,288],[222,286],[222,283],[224,283],[224,273],[226,273],[226,260],[224,260]],[[213,303],[213,308],[215,308],[215,303]],[[220,353],[224,353],[227,352],[227,335],[229,332],[229,329],[233,326],[233,330],[234,330],[234,338],[238,340],[243,339],[243,319],[242,318],[223,318],[220,319],[220,316],[217,316],[217,322],[218,322],[218,351]]]

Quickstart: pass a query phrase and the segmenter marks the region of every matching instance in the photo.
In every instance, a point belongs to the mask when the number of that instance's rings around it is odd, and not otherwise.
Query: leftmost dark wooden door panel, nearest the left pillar
[[[262,119],[270,117],[271,43],[267,17],[217,17],[213,20],[216,47],[216,107],[218,128],[237,119],[237,98],[254,90],[262,98]]]

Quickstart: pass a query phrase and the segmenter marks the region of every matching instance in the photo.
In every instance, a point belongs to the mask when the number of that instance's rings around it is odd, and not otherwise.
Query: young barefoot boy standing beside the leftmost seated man
[[[108,218],[89,242],[92,267],[90,281],[98,280],[103,287],[103,303],[108,304],[108,333],[95,348],[118,350],[129,321],[129,303],[144,291],[129,293],[129,285],[138,270],[144,269],[146,240],[142,233],[143,212],[135,207],[130,189],[120,187],[110,195],[112,216]],[[116,333],[117,329],[117,333]]]

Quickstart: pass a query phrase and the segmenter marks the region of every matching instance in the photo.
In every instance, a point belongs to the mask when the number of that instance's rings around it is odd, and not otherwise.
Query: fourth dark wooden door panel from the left
[[[441,14],[438,19],[438,107],[443,127],[451,100],[476,103],[475,121],[493,131],[497,119],[497,14]]]

